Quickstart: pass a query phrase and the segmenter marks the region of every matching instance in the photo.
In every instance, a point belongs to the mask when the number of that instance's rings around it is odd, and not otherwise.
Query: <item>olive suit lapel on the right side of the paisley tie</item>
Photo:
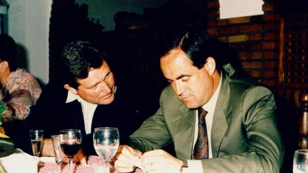
[[[225,71],[223,71],[225,72]],[[213,158],[218,157],[221,141],[228,129],[226,117],[231,113],[232,107],[230,104],[230,87],[228,73],[221,73],[221,87],[214,111],[211,144]]]

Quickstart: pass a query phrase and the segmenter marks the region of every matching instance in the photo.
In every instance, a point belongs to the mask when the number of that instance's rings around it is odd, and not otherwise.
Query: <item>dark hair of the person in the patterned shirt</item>
[[[16,44],[12,37],[0,34],[0,60],[9,63],[10,71],[17,69]]]

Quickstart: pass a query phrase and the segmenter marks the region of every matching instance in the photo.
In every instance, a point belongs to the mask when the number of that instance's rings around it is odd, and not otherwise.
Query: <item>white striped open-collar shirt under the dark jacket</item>
[[[93,115],[97,107],[97,104],[89,103],[83,100],[79,95],[73,94],[71,91],[68,91],[67,99],[65,103],[70,103],[76,99],[81,104],[83,122],[84,122],[84,128],[85,128],[86,134],[90,134],[91,126],[92,126],[92,119],[93,119]]]

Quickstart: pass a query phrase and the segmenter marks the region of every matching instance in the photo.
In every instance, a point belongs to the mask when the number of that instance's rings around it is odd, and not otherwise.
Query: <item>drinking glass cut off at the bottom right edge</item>
[[[308,150],[296,150],[293,158],[293,173],[308,172]]]

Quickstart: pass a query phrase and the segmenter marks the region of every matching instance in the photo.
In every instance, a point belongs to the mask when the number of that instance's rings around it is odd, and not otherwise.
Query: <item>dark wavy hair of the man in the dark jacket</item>
[[[107,57],[89,42],[73,41],[63,48],[64,82],[77,89],[78,79],[88,77],[91,68],[99,68]]]

